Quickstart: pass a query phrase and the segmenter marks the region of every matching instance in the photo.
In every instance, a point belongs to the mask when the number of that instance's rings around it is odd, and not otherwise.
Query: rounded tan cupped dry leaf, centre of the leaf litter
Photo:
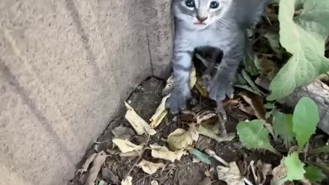
[[[186,149],[192,145],[193,141],[198,141],[199,133],[194,125],[190,125],[188,131],[177,128],[168,135],[167,142],[172,151]]]

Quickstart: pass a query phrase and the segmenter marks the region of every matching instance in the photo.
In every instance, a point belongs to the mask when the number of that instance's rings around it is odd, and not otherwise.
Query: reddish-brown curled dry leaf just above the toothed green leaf
[[[258,119],[265,120],[266,109],[263,104],[263,99],[261,96],[247,91],[242,91],[238,93],[244,101],[246,101],[254,110],[254,113]]]

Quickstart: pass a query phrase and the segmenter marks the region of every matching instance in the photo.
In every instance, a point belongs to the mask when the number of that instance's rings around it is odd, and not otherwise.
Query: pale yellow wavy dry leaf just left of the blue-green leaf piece
[[[179,161],[183,155],[188,154],[186,151],[184,151],[184,149],[173,152],[173,151],[170,151],[165,146],[150,145],[150,147],[152,149],[152,152],[151,152],[152,157],[169,160],[172,163],[175,162],[175,160]]]

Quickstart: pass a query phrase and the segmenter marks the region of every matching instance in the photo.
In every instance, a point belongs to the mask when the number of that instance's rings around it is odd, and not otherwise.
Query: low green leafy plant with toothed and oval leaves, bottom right
[[[299,153],[315,133],[319,122],[318,110],[314,101],[308,97],[301,98],[293,114],[284,114],[274,111],[273,130],[275,137],[280,136],[284,144],[290,146],[297,140],[298,151],[290,153],[283,158],[286,176],[280,182],[309,179],[311,182],[321,181],[324,174],[314,166],[304,168],[305,164],[299,159]],[[264,127],[263,120],[242,121],[237,126],[241,143],[248,149],[267,149],[277,153],[269,143],[269,131]],[[314,153],[327,151],[327,147],[314,149]],[[315,170],[316,169],[316,170]]]

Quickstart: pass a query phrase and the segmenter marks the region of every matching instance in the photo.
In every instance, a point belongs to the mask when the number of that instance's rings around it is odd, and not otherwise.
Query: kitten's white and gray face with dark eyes
[[[201,30],[219,24],[232,0],[173,0],[176,18],[184,21],[191,29]],[[217,21],[217,22],[216,22]]]

